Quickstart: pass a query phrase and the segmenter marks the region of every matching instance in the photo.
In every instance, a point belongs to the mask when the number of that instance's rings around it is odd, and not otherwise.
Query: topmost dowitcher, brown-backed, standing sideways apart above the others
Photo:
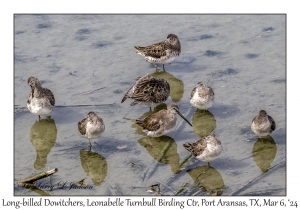
[[[137,54],[143,56],[147,62],[156,67],[156,71],[159,68],[155,63],[163,64],[163,70],[165,71],[164,65],[172,62],[181,52],[180,41],[175,34],[169,34],[165,41],[147,47],[135,46],[134,48]]]

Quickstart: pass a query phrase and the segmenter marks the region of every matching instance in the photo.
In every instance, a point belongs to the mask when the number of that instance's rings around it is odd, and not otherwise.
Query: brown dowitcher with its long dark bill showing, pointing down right
[[[137,119],[136,123],[151,137],[159,137],[171,131],[176,125],[176,114],[179,114],[190,126],[192,124],[180,113],[175,103],[168,105],[167,110],[160,110],[149,117]]]

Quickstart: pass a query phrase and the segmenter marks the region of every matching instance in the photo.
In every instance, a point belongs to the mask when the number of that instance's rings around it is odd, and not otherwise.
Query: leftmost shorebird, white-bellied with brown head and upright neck
[[[28,78],[28,85],[31,92],[27,101],[28,110],[35,115],[49,115],[55,105],[55,98],[51,90],[43,88],[36,77]]]

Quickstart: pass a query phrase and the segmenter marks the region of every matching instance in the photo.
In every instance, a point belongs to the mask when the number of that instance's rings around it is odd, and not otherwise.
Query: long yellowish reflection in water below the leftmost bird
[[[36,149],[34,168],[39,170],[45,167],[47,155],[54,146],[57,137],[57,128],[54,119],[47,117],[33,124],[29,139]]]

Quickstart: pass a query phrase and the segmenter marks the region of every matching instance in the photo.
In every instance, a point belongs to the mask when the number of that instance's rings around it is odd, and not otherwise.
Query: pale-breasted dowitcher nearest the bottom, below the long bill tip
[[[197,159],[208,162],[208,165],[210,165],[209,162],[215,160],[223,150],[222,144],[216,138],[215,134],[209,134],[194,143],[185,143],[183,146]]]

